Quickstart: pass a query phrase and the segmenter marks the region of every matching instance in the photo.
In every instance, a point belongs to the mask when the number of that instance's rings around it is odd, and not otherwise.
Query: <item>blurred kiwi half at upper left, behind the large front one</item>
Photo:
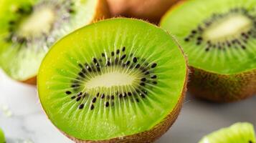
[[[49,46],[105,16],[105,0],[2,0],[0,66],[12,79],[35,84]]]

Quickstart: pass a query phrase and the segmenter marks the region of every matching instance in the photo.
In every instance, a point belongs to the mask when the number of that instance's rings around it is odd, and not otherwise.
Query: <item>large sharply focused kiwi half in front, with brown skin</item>
[[[153,142],[174,123],[186,59],[163,29],[108,19],[54,44],[38,75],[52,123],[75,142]]]

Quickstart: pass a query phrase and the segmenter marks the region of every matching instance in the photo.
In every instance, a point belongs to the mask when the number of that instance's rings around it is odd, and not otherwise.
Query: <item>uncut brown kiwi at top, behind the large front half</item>
[[[179,0],[108,0],[113,16],[144,19],[158,24],[161,16]]]

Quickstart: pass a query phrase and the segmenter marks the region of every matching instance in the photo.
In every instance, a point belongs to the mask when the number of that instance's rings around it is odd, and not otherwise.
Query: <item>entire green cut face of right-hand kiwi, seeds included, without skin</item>
[[[163,16],[161,27],[176,36],[190,66],[240,74],[256,69],[255,6],[255,0],[184,1]]]

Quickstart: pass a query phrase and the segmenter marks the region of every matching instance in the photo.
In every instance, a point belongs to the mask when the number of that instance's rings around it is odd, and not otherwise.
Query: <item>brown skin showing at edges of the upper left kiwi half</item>
[[[95,15],[93,16],[93,19],[90,21],[90,24],[92,24],[95,21],[110,18],[110,12],[109,12],[107,1],[106,0],[96,0],[96,1],[98,1],[97,7],[96,7],[96,12],[95,12]],[[37,84],[37,76],[31,77],[29,79],[26,79],[26,80],[20,81],[20,82],[23,82],[24,84],[36,85]]]

